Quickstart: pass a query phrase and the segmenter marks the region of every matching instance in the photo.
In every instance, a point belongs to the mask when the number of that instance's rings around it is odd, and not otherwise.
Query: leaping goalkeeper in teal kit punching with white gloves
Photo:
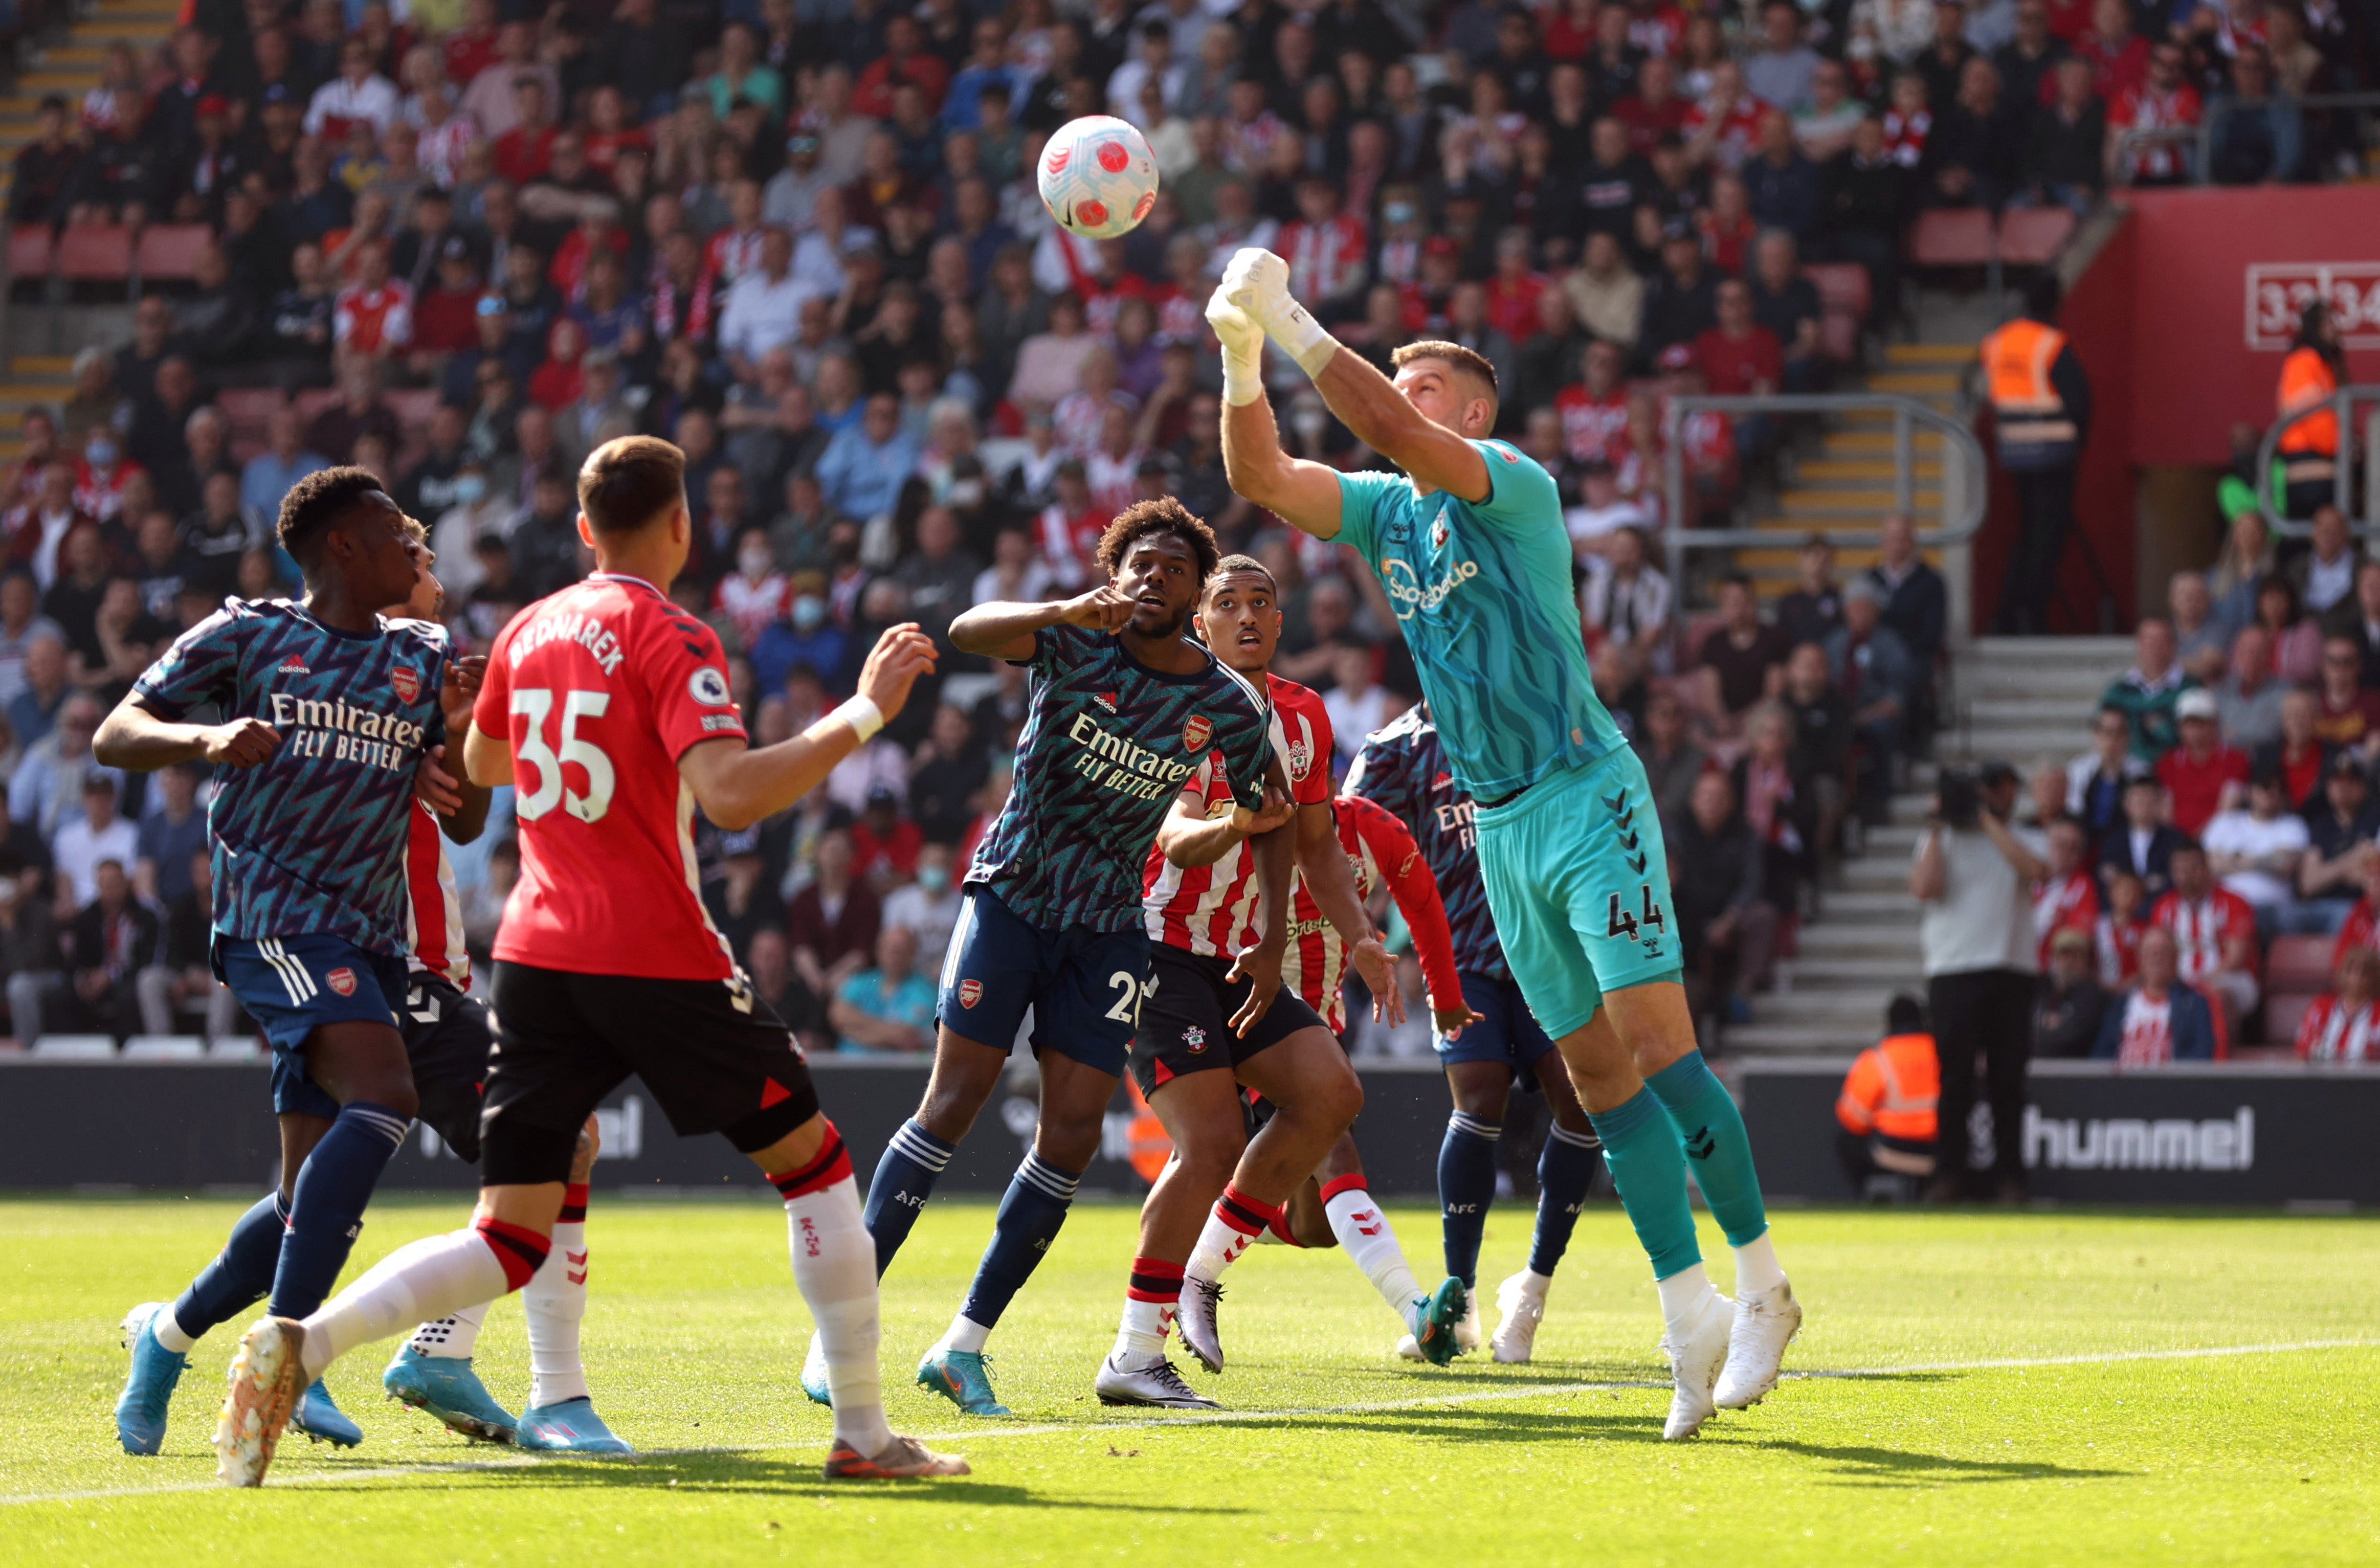
[[[1775,1387],[1802,1325],[1768,1242],[1752,1142],[1695,1049],[1645,769],[1595,697],[1552,476],[1488,440],[1495,369],[1457,343],[1395,352],[1397,378],[1340,352],[1290,297],[1290,269],[1240,250],[1207,305],[1223,343],[1230,488],[1352,545],[1388,590],[1454,780],[1478,802],[1480,876],[1504,957],[1561,1049],[1652,1259],[1676,1392],[1664,1437]],[[1292,459],[1264,397],[1264,340],[1395,473]],[[1735,1249],[1737,1299],[1702,1268],[1685,1161]]]

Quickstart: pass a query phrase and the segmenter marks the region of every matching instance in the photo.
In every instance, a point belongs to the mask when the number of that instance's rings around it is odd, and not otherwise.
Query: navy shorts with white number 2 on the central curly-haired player
[[[1009,1049],[1033,1009],[1033,1054],[1057,1052],[1123,1078],[1140,1004],[1150,995],[1150,933],[1042,930],[976,883],[942,957],[933,1018],[952,1035]]]

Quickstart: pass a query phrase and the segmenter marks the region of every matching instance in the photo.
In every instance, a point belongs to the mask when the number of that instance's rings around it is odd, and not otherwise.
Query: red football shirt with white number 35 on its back
[[[719,633],[652,583],[595,573],[488,654],[471,723],[512,747],[521,880],[495,957],[583,976],[726,980],[678,757],[743,740]]]

